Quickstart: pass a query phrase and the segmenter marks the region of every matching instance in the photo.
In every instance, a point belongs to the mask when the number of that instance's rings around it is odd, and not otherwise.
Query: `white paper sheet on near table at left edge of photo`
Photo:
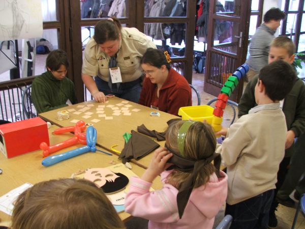
[[[16,201],[17,197],[26,189],[32,187],[33,185],[30,183],[25,183],[5,195],[0,197],[0,211],[5,212],[8,215],[12,215],[14,209],[14,202]]]

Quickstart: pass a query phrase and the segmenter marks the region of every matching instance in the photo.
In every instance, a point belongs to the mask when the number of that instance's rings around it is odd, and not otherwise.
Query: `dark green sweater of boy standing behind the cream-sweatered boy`
[[[258,75],[247,84],[238,104],[238,117],[247,115],[248,111],[255,107],[254,89]],[[299,78],[296,79],[291,91],[284,99],[283,112],[286,118],[287,130],[293,130],[295,137],[305,131],[305,85]],[[294,144],[285,151],[285,157],[290,157],[294,150]]]

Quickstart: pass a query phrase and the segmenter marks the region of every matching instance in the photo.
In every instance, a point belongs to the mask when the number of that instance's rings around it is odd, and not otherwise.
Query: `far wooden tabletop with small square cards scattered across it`
[[[126,133],[126,132],[130,133],[131,130],[137,130],[137,127],[142,124],[144,124],[149,130],[157,130],[159,132],[163,132],[167,128],[166,122],[168,120],[178,118],[177,116],[173,116],[173,115],[170,115],[169,113],[162,112],[162,111],[159,111],[160,115],[161,115],[160,117],[150,116],[150,112],[156,111],[155,109],[151,109],[149,107],[142,106],[140,104],[133,103],[130,101],[128,101],[128,103],[127,103],[127,105],[132,105],[132,107],[129,107],[129,110],[132,110],[134,108],[140,109],[137,112],[131,111],[131,113],[132,113],[131,116],[124,116],[124,115],[113,116],[113,120],[105,120],[105,118],[99,118],[98,117],[99,114],[96,113],[97,112],[96,109],[98,108],[99,105],[106,105],[106,106],[113,105],[118,108],[121,108],[124,106],[117,106],[116,104],[119,104],[122,101],[127,101],[127,100],[117,98],[117,97],[112,97],[112,98],[108,98],[108,101],[109,102],[106,104],[97,103],[95,101],[82,102],[82,103],[74,104],[69,107],[59,108],[56,110],[51,110],[48,112],[40,113],[39,116],[42,119],[44,119],[52,124],[56,124],[60,127],[74,125],[73,123],[71,123],[72,120],[83,120],[86,123],[93,124],[98,132],[97,145],[108,151],[111,150],[111,146],[113,146],[113,145],[118,145],[117,147],[115,147],[115,149],[118,151],[121,151],[124,148],[124,142],[125,142],[125,140],[123,138],[124,133]],[[82,108],[78,108],[77,106],[79,106],[79,105],[85,105],[85,106],[89,105],[90,106],[90,104],[93,104],[94,106],[92,106],[87,111],[81,112],[80,115],[75,115],[74,112],[69,112],[70,118],[68,120],[63,120],[63,121],[56,120],[57,111],[60,111],[63,109],[68,110],[68,109],[73,109],[73,108],[76,110],[80,110]],[[107,116],[112,116],[112,113],[113,113],[112,108],[105,107],[104,111]],[[93,112],[93,114],[91,115],[91,117],[89,119],[82,118],[82,116],[84,116],[84,113],[86,113],[86,112]],[[91,122],[91,120],[93,120],[93,119],[99,119],[101,121],[98,123],[94,123],[94,122]],[[158,142],[158,144],[160,144],[161,146],[164,146],[164,141]],[[151,156],[152,156],[152,154],[149,154],[138,161],[133,160],[133,162],[137,163],[139,166],[143,166],[144,168],[146,168],[150,162]]]

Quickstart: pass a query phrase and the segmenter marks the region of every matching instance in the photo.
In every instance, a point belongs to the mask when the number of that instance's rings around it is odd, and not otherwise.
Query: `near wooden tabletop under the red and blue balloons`
[[[49,129],[49,133],[53,132],[53,130],[56,128],[58,127],[53,125]],[[49,135],[51,145],[57,144],[58,142],[73,136],[71,133]],[[67,152],[68,150],[73,150],[81,146],[82,145],[75,145],[54,154]],[[111,166],[112,164],[109,163],[110,160],[120,163],[120,160],[117,159],[116,155],[109,156],[101,152],[85,153],[49,167],[44,167],[41,164],[42,160],[43,158],[41,150],[10,159],[7,159],[2,153],[0,153],[0,168],[3,169],[3,174],[0,175],[0,196],[26,182],[36,184],[38,182],[50,179],[69,178],[79,169]],[[136,175],[141,176],[144,173],[144,168],[132,164],[132,171]],[[156,178],[152,187],[154,189],[162,188],[160,177]],[[128,220],[130,217],[130,215],[125,212],[119,213],[119,216],[123,221]],[[0,219],[2,221],[8,221],[10,220],[10,216],[0,211]]]

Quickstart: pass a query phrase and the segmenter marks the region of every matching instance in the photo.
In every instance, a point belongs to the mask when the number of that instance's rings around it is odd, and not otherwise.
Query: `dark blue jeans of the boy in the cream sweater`
[[[235,205],[226,204],[225,215],[233,217],[230,229],[266,229],[274,189],[246,199]]]

